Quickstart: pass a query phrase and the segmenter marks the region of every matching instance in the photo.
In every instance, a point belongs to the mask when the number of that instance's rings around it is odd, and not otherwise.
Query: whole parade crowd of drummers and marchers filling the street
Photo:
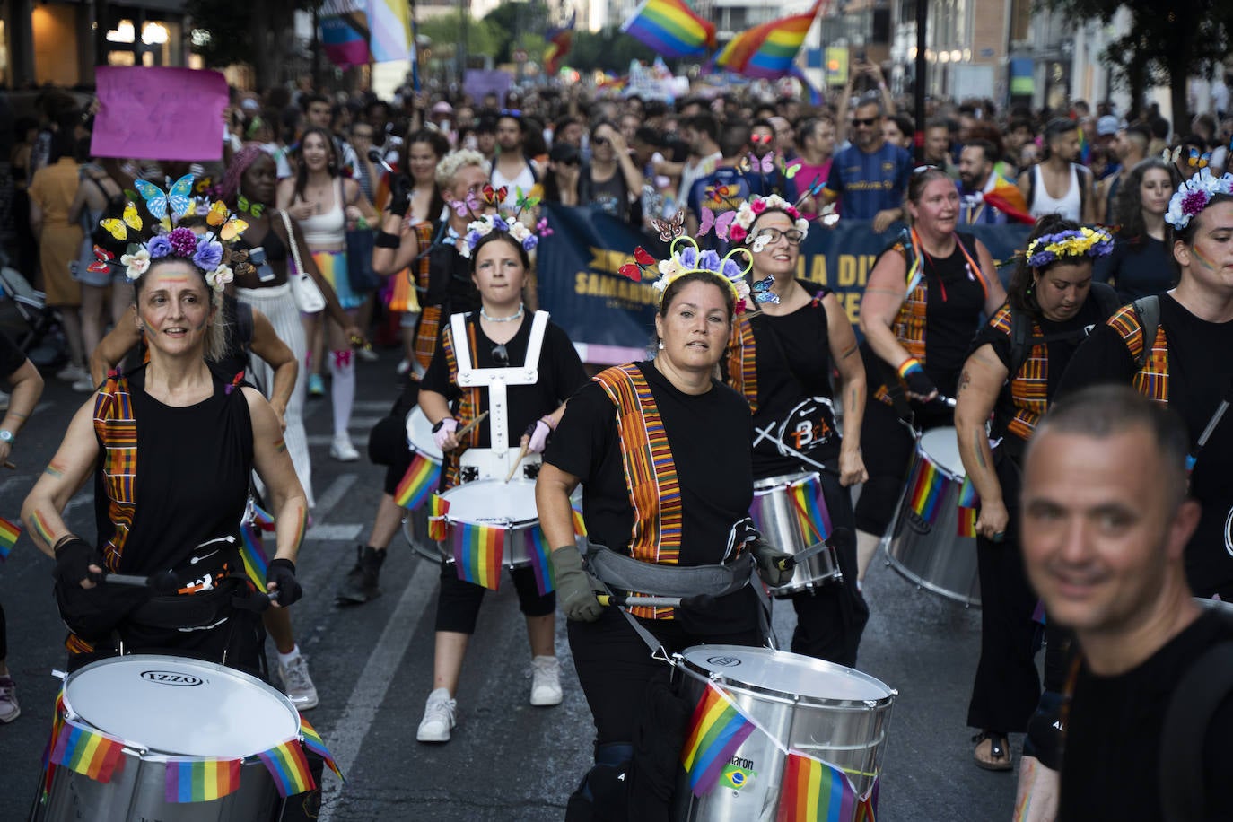
[[[1221,424],[1233,366],[1211,354],[1233,343],[1224,112],[1169,142],[1152,111],[1124,122],[1105,104],[999,116],[988,101],[932,102],[916,164],[915,123],[864,63],[835,106],[737,95],[668,106],[577,89],[480,101],[407,90],[398,105],[237,91],[232,102],[217,164],[91,158],[89,110],[47,105],[43,122],[18,123],[31,230],[11,259],[59,312],[68,365],[54,376],[90,394],[22,510],[55,560],[70,670],[149,649],[269,678],[268,631],[289,696],[317,704],[285,610],[314,507],[302,414],[328,393],[329,456],[359,458],[355,368],[372,338],[403,352],[401,394],[374,398],[393,402],[398,435],[370,444],[387,472],[338,599],[381,594],[413,408],[443,455],[446,499],[533,466],[555,590],[530,564],[510,574],[529,699],[562,701],[560,605],[596,725],[568,820],[666,812],[692,706],[647,646],[763,645],[769,590],[792,600],[793,652],[858,664],[862,579],[916,437],[937,428],[956,429],[980,500],[975,764],[1011,770],[1009,735],[1027,732],[1022,818],[1101,817],[1113,797],[1118,818],[1169,808],[1147,775],[1165,765],[1170,694],[1233,636],[1191,600],[1233,598],[1233,424]],[[536,311],[536,198],[667,234],[644,266],[656,290],[647,360],[588,371]],[[829,288],[798,279],[803,240],[838,219],[910,227],[869,274],[863,343]],[[1000,222],[1034,224],[1006,287],[968,229]],[[41,378],[0,346],[14,385],[2,461]],[[213,481],[137,481],[138,466],[173,476],[173,452]],[[95,474],[91,539],[62,513]],[[856,535],[832,547],[825,584],[794,588],[790,553],[753,527],[756,494],[785,482]],[[256,584],[237,540],[250,498],[276,524]],[[485,594],[445,558],[425,743],[456,726]],[[107,585],[117,572],[164,588]],[[255,608],[266,594],[275,608]],[[688,603],[609,605],[641,595]],[[0,611],[0,721],[11,721],[4,664]],[[1233,714],[1223,693],[1213,699],[1219,728]],[[1147,718],[1123,746],[1118,717],[1132,711]],[[1185,818],[1228,816],[1226,758],[1208,733],[1190,796],[1203,816]],[[1131,786],[1124,773],[1144,778]]]

